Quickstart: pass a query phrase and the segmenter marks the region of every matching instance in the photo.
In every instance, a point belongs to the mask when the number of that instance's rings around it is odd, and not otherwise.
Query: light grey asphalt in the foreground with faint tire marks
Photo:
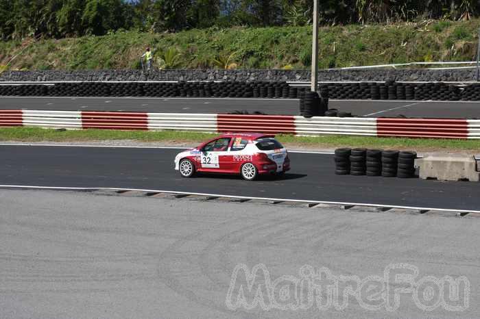
[[[479,218],[26,190],[0,190],[0,207],[1,318],[480,317]],[[238,264],[264,264],[274,281],[300,279],[304,265],[383,277],[399,263],[418,267],[416,282],[465,276],[468,309],[424,311],[411,293],[394,311],[367,310],[352,296],[341,310],[226,305]],[[389,292],[405,287],[392,277]],[[246,287],[241,274],[234,282]]]

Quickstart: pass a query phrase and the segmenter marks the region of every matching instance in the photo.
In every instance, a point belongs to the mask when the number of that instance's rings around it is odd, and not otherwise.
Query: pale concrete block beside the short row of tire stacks
[[[466,153],[431,153],[416,159],[421,179],[480,181],[475,157]]]

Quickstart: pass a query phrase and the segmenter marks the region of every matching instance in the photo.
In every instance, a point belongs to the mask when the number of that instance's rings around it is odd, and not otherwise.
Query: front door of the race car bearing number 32
[[[228,172],[228,146],[231,138],[218,138],[202,147],[200,169],[204,172]]]

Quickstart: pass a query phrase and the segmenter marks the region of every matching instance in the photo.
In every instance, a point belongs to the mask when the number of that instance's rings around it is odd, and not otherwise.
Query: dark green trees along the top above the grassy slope
[[[205,27],[307,25],[307,0],[2,0],[0,38],[101,36],[110,31],[181,31]],[[470,20],[477,0],[322,0],[322,25],[392,23],[424,18]],[[437,25],[440,32],[444,26]]]

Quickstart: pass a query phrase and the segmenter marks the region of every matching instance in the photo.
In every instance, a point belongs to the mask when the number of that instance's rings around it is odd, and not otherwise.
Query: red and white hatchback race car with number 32
[[[195,173],[240,174],[253,181],[259,175],[280,175],[290,169],[288,152],[274,135],[228,133],[175,157],[182,177]]]

